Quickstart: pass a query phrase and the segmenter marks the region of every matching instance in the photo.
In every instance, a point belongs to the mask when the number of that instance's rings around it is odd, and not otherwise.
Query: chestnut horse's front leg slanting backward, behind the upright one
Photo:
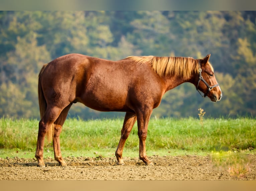
[[[137,119],[137,117],[136,117],[135,113],[126,112],[125,117],[124,117],[123,128],[121,130],[121,138],[120,138],[118,147],[115,152],[118,165],[124,164],[124,161],[122,158],[124,144],[132,130],[132,127],[133,127],[136,119]]]

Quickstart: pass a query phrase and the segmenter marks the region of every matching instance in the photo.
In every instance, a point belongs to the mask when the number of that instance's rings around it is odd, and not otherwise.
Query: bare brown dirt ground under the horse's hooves
[[[0,180],[256,180],[256,155],[251,158],[250,172],[234,177],[227,169],[213,167],[208,156],[150,156],[153,166],[138,158],[125,157],[125,165],[116,158],[66,157],[61,167],[45,158],[45,168],[36,159],[0,158]]]

